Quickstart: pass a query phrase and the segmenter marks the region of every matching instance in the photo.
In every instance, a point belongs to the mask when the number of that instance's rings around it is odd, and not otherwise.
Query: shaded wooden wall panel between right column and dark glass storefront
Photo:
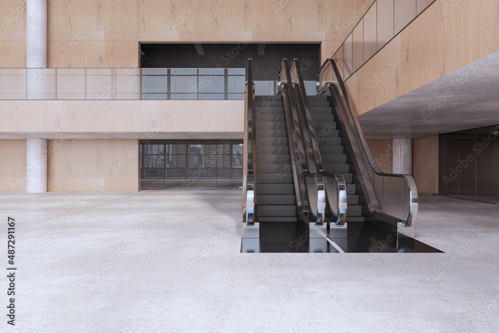
[[[438,193],[438,135],[413,140],[413,177],[418,193]]]

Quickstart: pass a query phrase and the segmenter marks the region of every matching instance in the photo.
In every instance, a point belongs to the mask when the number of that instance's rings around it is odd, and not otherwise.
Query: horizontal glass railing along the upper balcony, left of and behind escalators
[[[0,99],[245,98],[245,68],[1,68]],[[277,81],[255,81],[256,95],[275,95]],[[315,82],[306,81],[315,94]]]

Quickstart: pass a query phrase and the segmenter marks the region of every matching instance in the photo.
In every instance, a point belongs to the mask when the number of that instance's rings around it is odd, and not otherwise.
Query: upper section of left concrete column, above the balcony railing
[[[26,67],[47,67],[47,0],[26,1]]]

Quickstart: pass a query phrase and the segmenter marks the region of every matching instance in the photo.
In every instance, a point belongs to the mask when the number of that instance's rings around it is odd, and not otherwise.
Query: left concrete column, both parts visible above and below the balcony
[[[47,67],[47,0],[26,1],[26,67]],[[26,192],[47,192],[47,139],[26,140]]]

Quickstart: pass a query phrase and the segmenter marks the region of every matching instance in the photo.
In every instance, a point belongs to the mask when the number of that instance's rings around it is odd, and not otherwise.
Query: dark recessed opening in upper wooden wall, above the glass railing
[[[282,58],[298,58],[305,80],[315,81],[320,44],[141,44],[142,68],[246,68],[253,59],[254,80],[277,80]]]

